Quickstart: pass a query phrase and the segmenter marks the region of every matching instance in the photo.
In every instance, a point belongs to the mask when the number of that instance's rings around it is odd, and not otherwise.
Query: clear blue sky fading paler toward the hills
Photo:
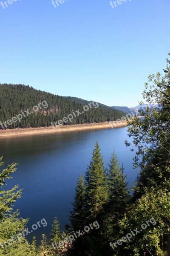
[[[138,105],[147,76],[166,65],[170,1],[127,0],[114,9],[109,2],[65,0],[55,8],[51,0],[16,0],[0,6],[0,82]]]

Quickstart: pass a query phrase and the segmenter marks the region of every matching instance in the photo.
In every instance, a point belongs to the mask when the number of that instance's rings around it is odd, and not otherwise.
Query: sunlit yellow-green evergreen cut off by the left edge
[[[3,157],[0,157],[0,167],[3,165]],[[18,186],[8,191],[2,189],[6,179],[16,171],[16,165],[8,165],[0,172],[0,256],[31,256],[31,246],[22,235],[28,219],[19,218],[19,212],[13,212],[14,202],[20,198],[22,190],[17,191]]]

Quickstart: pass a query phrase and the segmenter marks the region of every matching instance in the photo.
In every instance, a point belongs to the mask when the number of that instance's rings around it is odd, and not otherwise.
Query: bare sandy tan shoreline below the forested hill
[[[117,123],[115,121],[114,128],[125,127],[127,126],[126,121],[122,121]],[[105,129],[111,128],[109,122],[103,123],[91,123],[91,124],[83,124],[83,125],[65,125],[57,128],[50,127],[40,127],[40,128],[15,128],[15,129],[7,129],[0,130],[0,137],[14,137],[21,135],[34,135],[34,134],[48,134],[48,133],[61,133],[68,131],[82,131],[82,130],[91,130],[91,129]]]

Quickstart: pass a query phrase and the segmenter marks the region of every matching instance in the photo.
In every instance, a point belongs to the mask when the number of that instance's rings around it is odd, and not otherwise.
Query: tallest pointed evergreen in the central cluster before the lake
[[[103,158],[100,152],[99,144],[93,150],[90,165],[85,175],[85,206],[86,206],[86,224],[98,221],[100,228],[93,229],[85,234],[83,240],[83,250],[86,256],[102,256],[105,253],[102,250],[102,228],[105,205],[108,202],[107,176],[104,171]]]

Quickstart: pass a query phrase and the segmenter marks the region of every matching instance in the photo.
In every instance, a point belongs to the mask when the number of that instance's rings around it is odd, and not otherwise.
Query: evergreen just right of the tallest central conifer
[[[108,255],[111,255],[112,248],[108,241],[116,241],[121,236],[119,221],[122,220],[129,204],[129,190],[126,183],[126,176],[123,175],[124,168],[119,167],[115,151],[111,155],[108,164],[108,188],[109,200],[105,207],[105,220],[103,224],[104,245]],[[115,255],[120,255],[120,247],[114,251]]]

